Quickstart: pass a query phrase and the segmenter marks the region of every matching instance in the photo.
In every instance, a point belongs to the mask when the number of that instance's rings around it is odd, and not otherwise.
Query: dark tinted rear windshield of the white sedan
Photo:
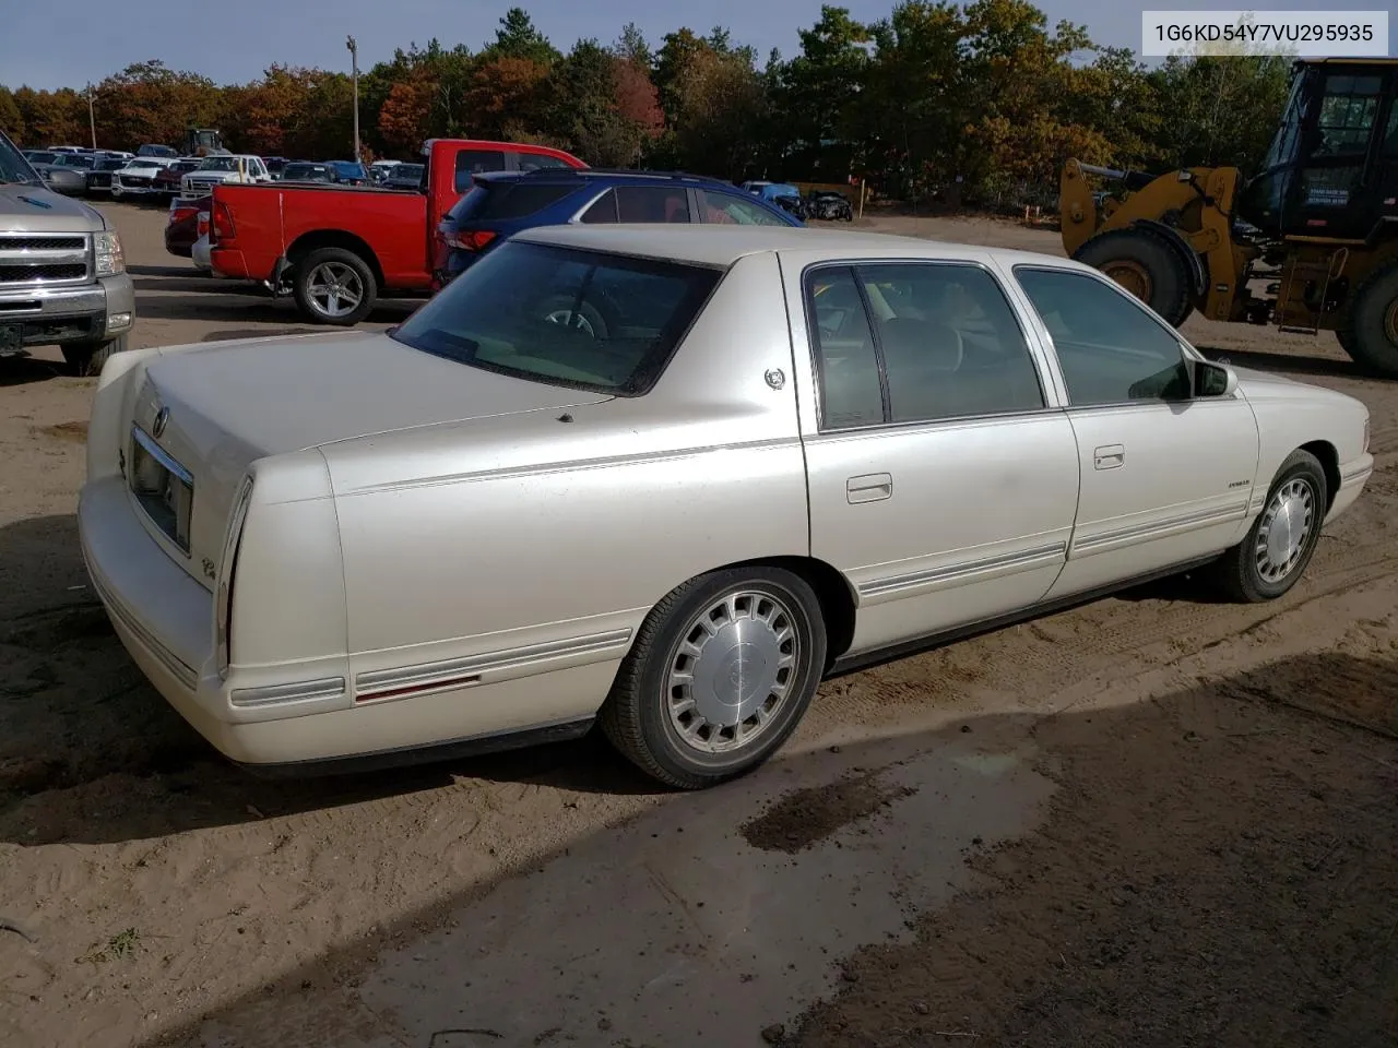
[[[393,337],[502,374],[635,397],[649,390],[720,270],[552,245],[500,245]]]

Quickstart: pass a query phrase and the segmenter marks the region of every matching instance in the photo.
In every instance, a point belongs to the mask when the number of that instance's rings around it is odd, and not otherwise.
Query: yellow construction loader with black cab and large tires
[[[1297,61],[1281,127],[1246,182],[1236,168],[1152,176],[1068,161],[1064,250],[1172,324],[1198,310],[1334,331],[1357,363],[1398,377],[1395,96],[1398,59]]]

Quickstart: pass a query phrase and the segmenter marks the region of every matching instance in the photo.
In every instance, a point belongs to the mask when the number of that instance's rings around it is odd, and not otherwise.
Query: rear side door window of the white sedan
[[[833,405],[825,412],[828,426],[932,422],[1044,407],[1029,344],[986,270],[877,263],[833,272],[847,272],[849,284],[832,277],[825,289],[808,291],[822,395]],[[863,348],[865,338],[870,349]],[[832,347],[837,349],[833,358]],[[871,418],[881,401],[886,414]],[[864,421],[839,421],[853,416]]]

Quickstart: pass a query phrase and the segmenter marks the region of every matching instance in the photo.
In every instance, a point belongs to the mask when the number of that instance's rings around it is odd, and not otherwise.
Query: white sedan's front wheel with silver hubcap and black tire
[[[1215,565],[1223,592],[1260,604],[1296,585],[1316,552],[1328,506],[1320,460],[1310,451],[1292,451],[1276,471],[1262,513]]]

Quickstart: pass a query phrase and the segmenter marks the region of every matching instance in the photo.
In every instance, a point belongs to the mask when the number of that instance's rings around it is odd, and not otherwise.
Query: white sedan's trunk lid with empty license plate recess
[[[212,588],[238,486],[259,458],[604,400],[470,367],[375,333],[225,342],[169,352],[145,367],[123,439],[124,471],[147,528]]]

